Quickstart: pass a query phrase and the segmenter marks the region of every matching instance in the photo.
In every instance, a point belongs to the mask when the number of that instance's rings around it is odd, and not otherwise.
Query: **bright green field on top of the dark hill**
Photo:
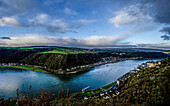
[[[69,51],[69,50],[64,50],[64,49],[54,49],[52,51],[47,51],[47,52],[40,52],[41,54],[45,53],[57,53],[57,54],[83,54],[85,52],[75,52],[75,51]]]

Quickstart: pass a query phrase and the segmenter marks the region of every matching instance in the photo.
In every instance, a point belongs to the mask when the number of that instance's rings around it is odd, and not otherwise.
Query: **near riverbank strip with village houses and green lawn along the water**
[[[130,70],[129,72],[127,72],[126,74],[124,74],[123,76],[118,78],[117,81],[119,81],[119,82],[115,81],[115,82],[108,84],[104,87],[88,90],[86,92],[76,93],[74,97],[79,98],[79,99],[83,99],[83,98],[89,99],[89,98],[93,98],[93,97],[98,98],[98,97],[101,97],[101,95],[103,96],[108,93],[111,93],[114,95],[119,95],[120,92],[117,90],[118,89],[120,90],[120,88],[122,88],[123,85],[127,82],[127,80],[129,78],[131,78],[134,74],[137,74],[141,70],[144,70],[147,68],[158,67],[159,65],[161,65],[161,61],[156,61],[156,62],[150,61],[150,62],[142,63],[136,69]]]

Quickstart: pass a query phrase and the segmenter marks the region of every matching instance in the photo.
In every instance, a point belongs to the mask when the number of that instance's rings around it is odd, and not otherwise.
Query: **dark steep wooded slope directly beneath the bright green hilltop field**
[[[92,64],[100,60],[98,54],[58,54],[58,53],[37,53],[23,59],[22,62],[43,66],[47,69],[66,69],[79,65]]]

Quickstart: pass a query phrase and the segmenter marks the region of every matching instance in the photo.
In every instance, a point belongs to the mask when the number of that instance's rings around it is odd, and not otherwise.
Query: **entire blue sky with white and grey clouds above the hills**
[[[170,0],[0,0],[0,46],[170,49]]]

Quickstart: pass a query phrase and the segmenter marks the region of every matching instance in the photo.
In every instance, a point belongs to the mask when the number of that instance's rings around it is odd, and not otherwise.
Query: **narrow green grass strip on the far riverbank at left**
[[[49,73],[39,67],[35,66],[0,66],[0,67],[11,67],[11,68],[20,68],[20,69],[25,69],[25,70],[32,70],[32,71],[37,71],[37,72],[43,72],[43,73]]]

